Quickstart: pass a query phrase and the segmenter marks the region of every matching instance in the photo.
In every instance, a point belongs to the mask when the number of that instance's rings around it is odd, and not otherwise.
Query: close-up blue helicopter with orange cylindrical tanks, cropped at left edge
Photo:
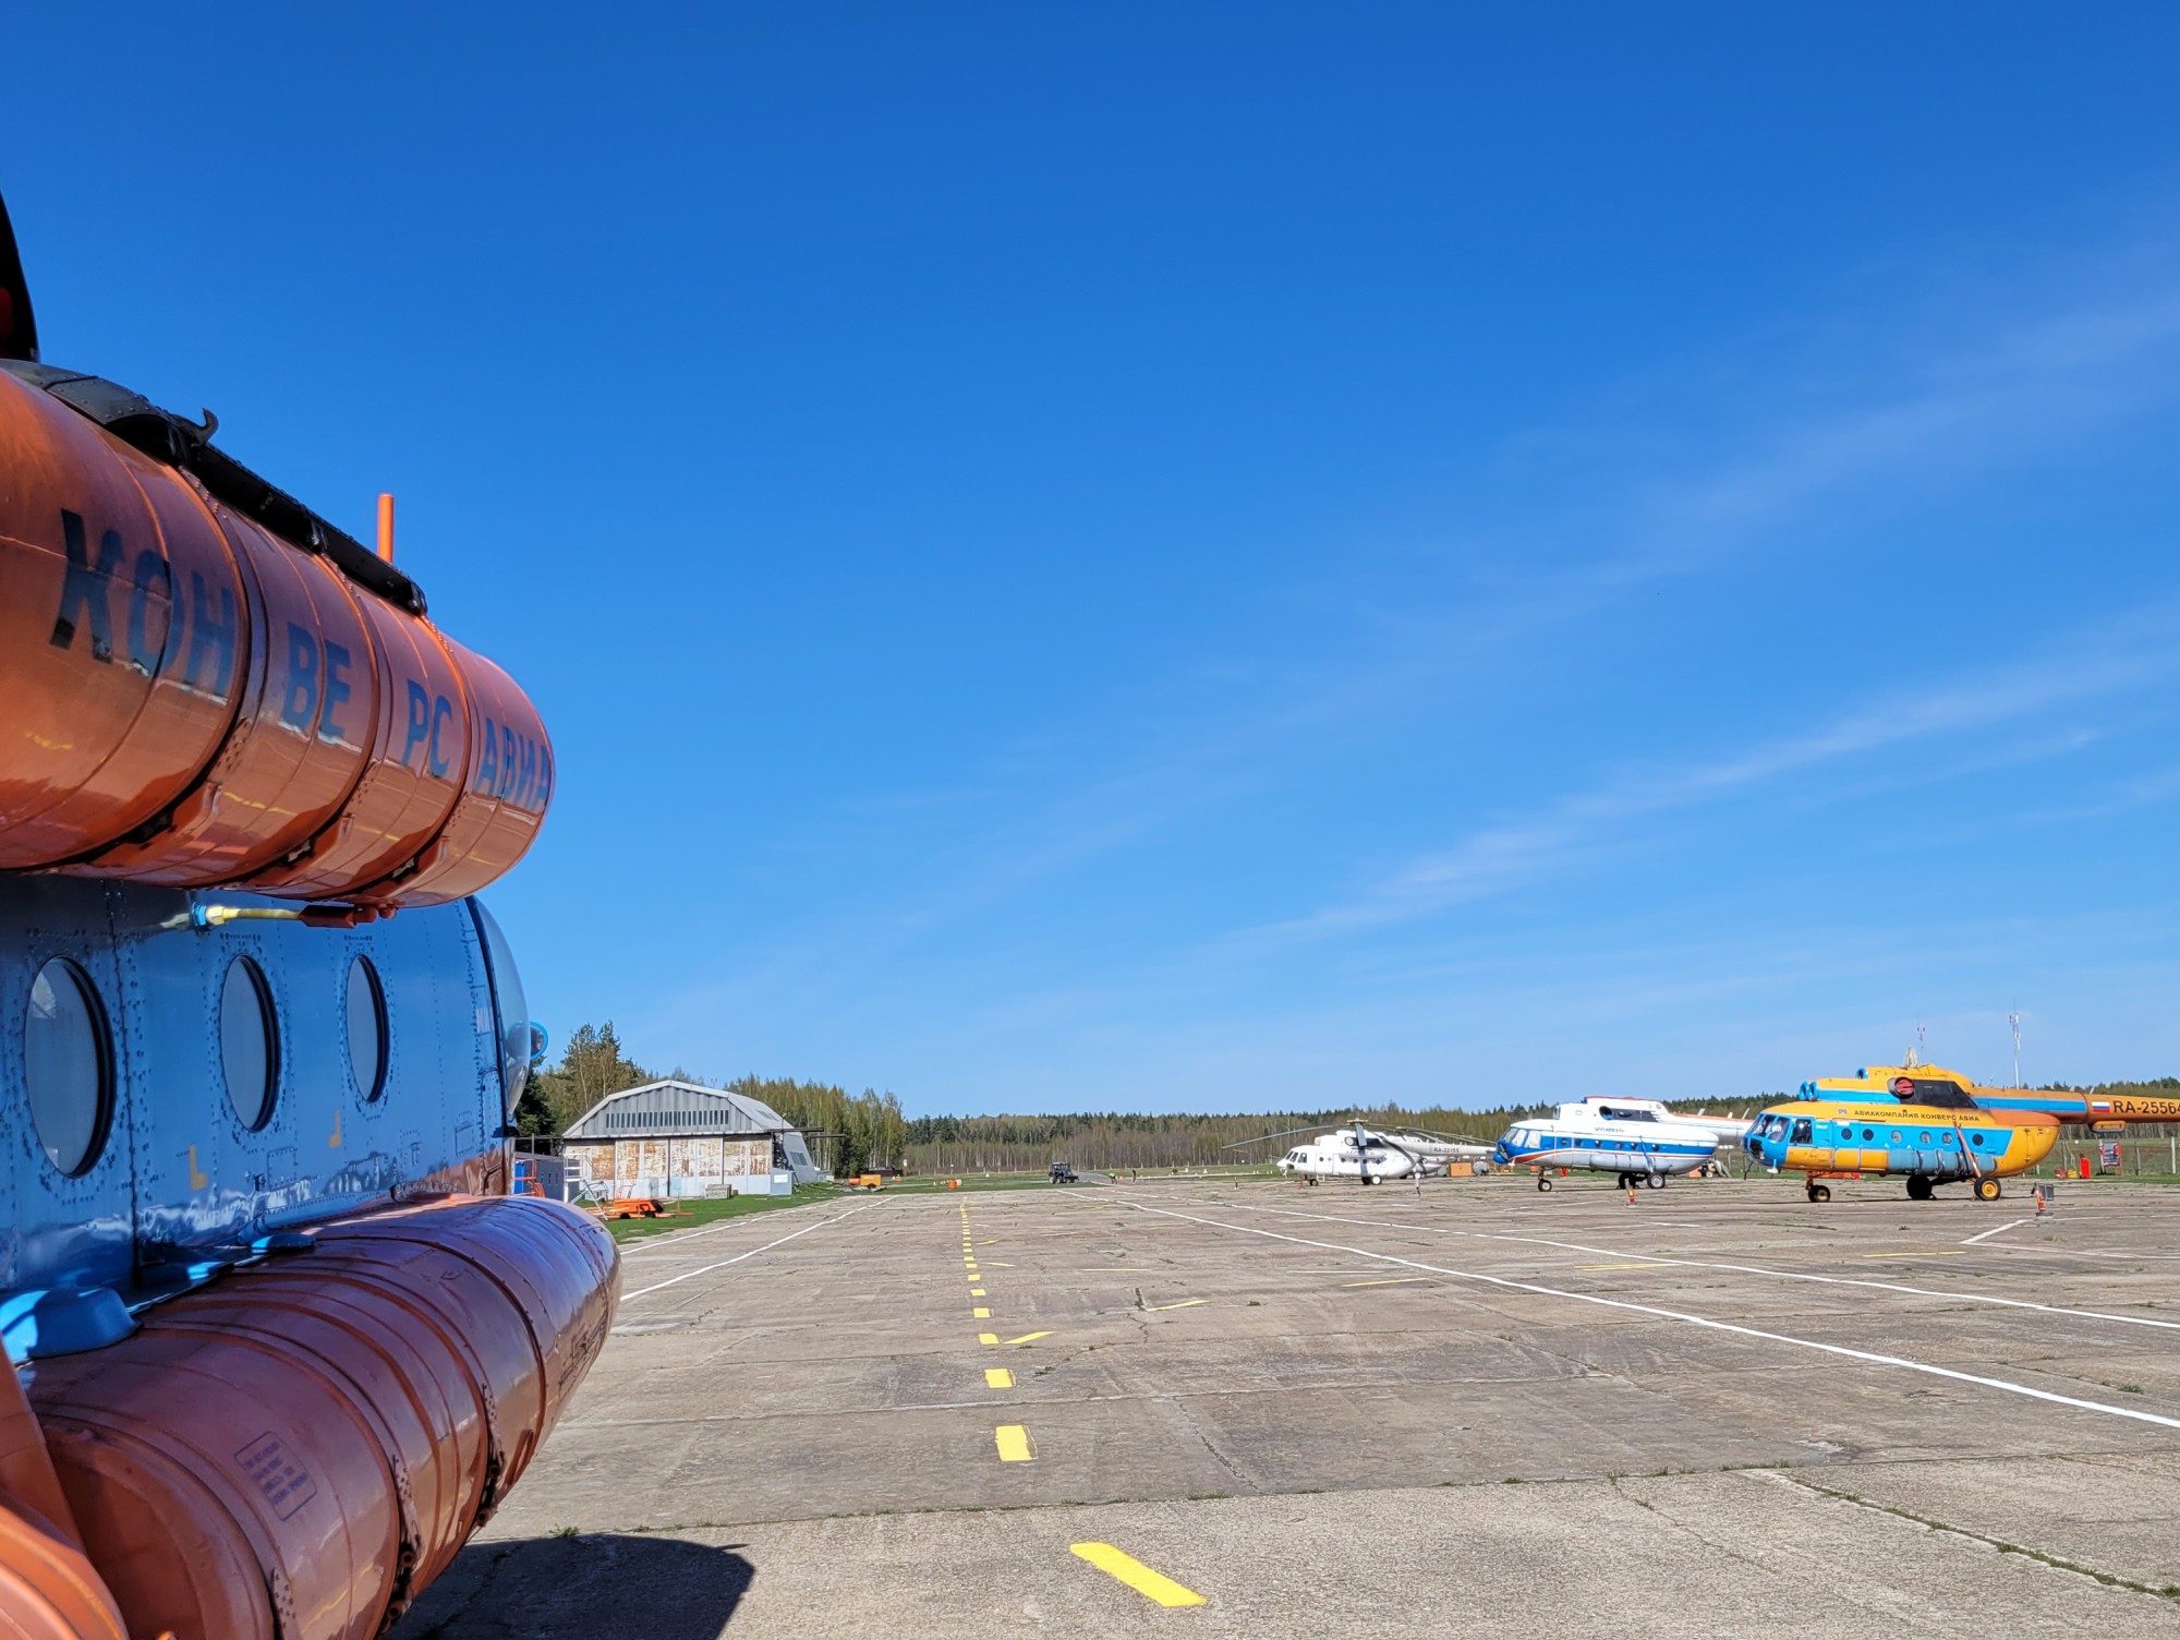
[[[471,899],[528,696],[174,417],[39,362],[0,212],[0,1636],[373,1640],[613,1324],[506,1195],[536,1027]],[[209,899],[214,896],[216,899]]]

